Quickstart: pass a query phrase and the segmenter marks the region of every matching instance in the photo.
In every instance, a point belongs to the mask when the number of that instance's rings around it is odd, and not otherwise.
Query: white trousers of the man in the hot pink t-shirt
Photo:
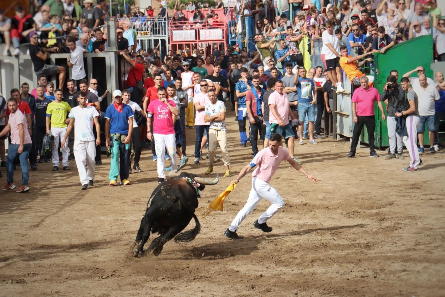
[[[166,178],[164,172],[165,160],[164,155],[166,153],[166,148],[168,155],[171,160],[171,170],[178,169],[178,163],[176,162],[176,157],[174,153],[176,152],[176,138],[175,134],[153,134],[154,137],[154,149],[156,155],[158,156],[158,177]]]

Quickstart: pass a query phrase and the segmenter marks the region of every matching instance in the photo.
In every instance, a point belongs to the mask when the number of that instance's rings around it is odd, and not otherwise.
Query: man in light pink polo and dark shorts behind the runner
[[[271,129],[273,124],[278,125],[275,133],[282,135],[287,140],[289,155],[291,156],[291,159],[294,159],[295,134],[292,125],[289,122],[289,116],[294,118],[294,113],[289,108],[289,98],[287,97],[287,94],[283,92],[283,89],[283,81],[276,81],[275,92],[269,96],[269,101],[267,102],[270,108],[269,123],[271,123]],[[294,161],[297,160],[294,159]]]

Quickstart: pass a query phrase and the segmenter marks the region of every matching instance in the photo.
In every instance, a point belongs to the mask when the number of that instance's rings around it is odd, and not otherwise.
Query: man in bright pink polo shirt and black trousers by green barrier
[[[360,133],[363,125],[366,125],[368,130],[368,144],[370,157],[377,158],[376,150],[374,149],[374,129],[376,128],[376,119],[374,117],[375,102],[382,113],[382,119],[385,120],[385,112],[383,110],[382,102],[380,101],[380,94],[376,88],[368,85],[368,77],[360,77],[360,88],[354,91],[352,95],[352,117],[354,122],[354,131],[352,132],[351,151],[347,155],[348,158],[354,158],[356,156],[357,144],[360,140]]]

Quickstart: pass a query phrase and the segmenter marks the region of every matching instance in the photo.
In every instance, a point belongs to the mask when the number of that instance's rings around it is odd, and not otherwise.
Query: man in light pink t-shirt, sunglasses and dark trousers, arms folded
[[[195,142],[195,159],[194,164],[199,164],[199,156],[201,151],[201,141],[204,130],[206,135],[209,135],[210,123],[204,122],[204,114],[206,114],[206,105],[210,103],[210,99],[207,96],[207,91],[209,89],[209,82],[205,79],[199,81],[199,86],[201,87],[201,93],[195,94],[193,98],[193,105],[196,110],[195,114],[195,129],[196,129],[196,142]]]

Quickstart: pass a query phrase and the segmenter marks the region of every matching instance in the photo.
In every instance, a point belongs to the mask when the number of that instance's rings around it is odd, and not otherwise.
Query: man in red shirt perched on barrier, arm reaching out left
[[[122,57],[124,57],[125,61],[131,65],[127,76],[127,89],[130,91],[131,101],[139,104],[142,97],[142,73],[144,73],[144,57],[142,55],[137,55],[136,59],[133,61],[127,53],[123,51],[119,53],[122,55]]]

